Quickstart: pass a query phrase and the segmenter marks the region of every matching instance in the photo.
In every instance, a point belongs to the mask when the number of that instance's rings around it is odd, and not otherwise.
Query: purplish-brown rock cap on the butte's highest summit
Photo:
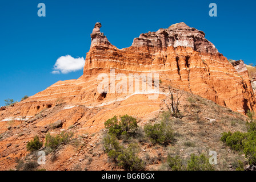
[[[201,53],[218,53],[215,46],[205,39],[205,33],[187,26],[185,23],[173,24],[169,28],[160,28],[157,32],[141,34],[133,41],[133,47],[191,47]]]

